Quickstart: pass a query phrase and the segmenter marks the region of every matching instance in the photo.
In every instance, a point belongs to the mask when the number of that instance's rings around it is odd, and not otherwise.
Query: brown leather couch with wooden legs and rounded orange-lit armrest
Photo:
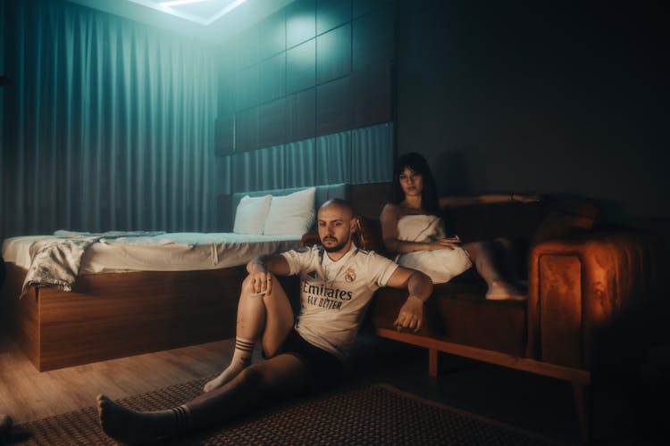
[[[571,381],[582,436],[588,437],[588,386],[600,352],[617,350],[599,334],[629,312],[652,308],[666,272],[661,241],[641,230],[608,227],[595,206],[579,199],[478,204],[450,210],[444,218],[448,232],[464,242],[512,240],[527,300],[486,300],[487,286],[471,268],[435,285],[418,333],[394,329],[407,295],[392,288],[375,293],[367,329],[427,348],[431,376],[437,376],[444,351]],[[359,245],[386,254],[379,220],[361,220]],[[310,233],[303,243],[317,240]]]

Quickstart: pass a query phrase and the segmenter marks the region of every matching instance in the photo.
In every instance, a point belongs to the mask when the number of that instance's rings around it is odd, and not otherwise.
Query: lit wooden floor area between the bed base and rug
[[[202,376],[230,363],[232,340],[38,372],[6,336],[0,339],[0,413],[24,423]]]

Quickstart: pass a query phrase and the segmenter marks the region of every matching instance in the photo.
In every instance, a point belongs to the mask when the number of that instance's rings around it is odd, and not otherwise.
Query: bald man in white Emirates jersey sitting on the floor
[[[322,245],[262,256],[247,264],[239,296],[235,352],[230,366],[181,406],[155,412],[123,408],[97,398],[105,434],[122,442],[148,442],[190,429],[219,425],[265,399],[286,398],[331,386],[343,375],[364,310],[381,286],[406,289],[395,325],[418,330],[431,279],[356,248],[351,205],[325,202],[317,217]],[[300,275],[300,312],[293,311],[275,275]],[[250,365],[256,341],[264,360]]]

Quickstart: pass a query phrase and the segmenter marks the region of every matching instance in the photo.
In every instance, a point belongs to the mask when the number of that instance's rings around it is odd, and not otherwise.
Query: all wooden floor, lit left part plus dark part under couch
[[[440,376],[431,378],[424,349],[365,335],[356,343],[351,360],[355,375],[560,442],[578,443],[567,382],[451,355],[440,356]],[[99,393],[119,399],[214,376],[230,363],[233,349],[233,340],[225,340],[39,373],[0,335],[0,414],[21,424],[92,406]],[[258,350],[255,361],[261,359]],[[607,392],[596,404],[593,444],[656,445],[640,438],[629,414],[616,413],[612,396]]]

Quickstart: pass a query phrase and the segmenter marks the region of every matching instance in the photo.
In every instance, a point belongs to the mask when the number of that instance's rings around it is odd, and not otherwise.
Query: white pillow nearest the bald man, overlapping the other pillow
[[[315,187],[293,194],[273,196],[265,220],[264,235],[303,235],[314,223]]]

